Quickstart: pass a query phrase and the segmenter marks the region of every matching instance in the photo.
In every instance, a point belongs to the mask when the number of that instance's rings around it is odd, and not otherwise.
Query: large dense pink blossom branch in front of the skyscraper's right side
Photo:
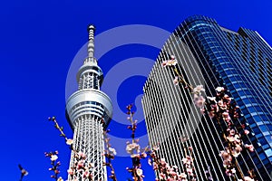
[[[207,97],[207,101],[201,96],[201,91],[205,91],[202,86],[197,86],[194,89],[194,102],[203,114],[207,114],[209,118],[216,120],[222,129],[225,149],[220,151],[219,156],[223,159],[223,167],[226,168],[227,176],[234,176],[237,173],[237,160],[235,157],[241,154],[243,148],[248,148],[251,152],[254,151],[252,145],[244,144],[242,140],[242,137],[248,135],[249,131],[242,129],[239,132],[238,127],[234,124],[239,117],[239,107],[225,93],[225,88],[218,87],[216,96]],[[242,176],[241,173],[240,175]]]

